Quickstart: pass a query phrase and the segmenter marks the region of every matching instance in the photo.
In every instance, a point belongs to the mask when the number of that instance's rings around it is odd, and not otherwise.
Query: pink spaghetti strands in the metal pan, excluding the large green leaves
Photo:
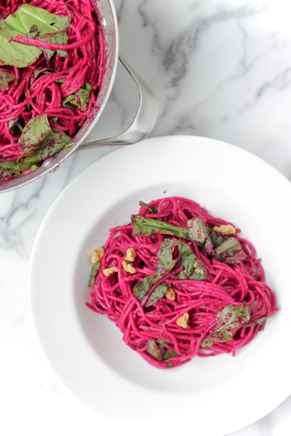
[[[67,146],[92,110],[103,76],[102,31],[90,0],[0,0],[0,18],[6,23],[7,17],[23,5],[67,17],[68,25],[66,44],[55,44],[48,35],[38,36],[35,26],[28,34],[12,36],[10,42],[41,50],[35,62],[25,67],[7,64],[0,56],[1,74],[6,72],[10,77],[6,89],[0,89],[0,175],[7,179],[32,171],[32,164],[41,165],[62,148],[60,139],[58,147],[43,153],[40,145],[36,157],[36,147],[29,149],[30,144],[26,148],[21,144],[25,125],[42,115],[55,135],[62,138],[63,132],[63,147]],[[85,100],[80,100],[80,90]],[[32,155],[33,159],[25,160]],[[9,161],[14,163],[9,165]]]

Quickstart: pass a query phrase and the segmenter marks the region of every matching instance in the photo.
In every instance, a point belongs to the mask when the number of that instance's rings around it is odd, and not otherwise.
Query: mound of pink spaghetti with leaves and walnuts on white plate
[[[234,355],[277,310],[253,245],[194,201],[141,204],[131,224],[110,230],[86,305],[106,314],[155,367]]]

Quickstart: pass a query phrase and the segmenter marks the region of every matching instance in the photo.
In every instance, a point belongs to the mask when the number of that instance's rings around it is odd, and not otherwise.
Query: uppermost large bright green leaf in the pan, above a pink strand
[[[31,27],[36,25],[39,34],[44,35],[67,29],[69,27],[69,18],[67,16],[50,14],[46,9],[26,3],[22,4],[14,14],[7,16],[5,24],[27,35]]]

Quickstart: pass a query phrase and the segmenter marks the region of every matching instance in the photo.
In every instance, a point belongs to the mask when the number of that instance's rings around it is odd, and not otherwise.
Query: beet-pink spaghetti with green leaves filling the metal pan
[[[0,0],[0,177],[71,145],[103,76],[90,0]]]

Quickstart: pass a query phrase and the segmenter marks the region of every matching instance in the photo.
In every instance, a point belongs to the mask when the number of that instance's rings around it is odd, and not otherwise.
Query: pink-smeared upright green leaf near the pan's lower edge
[[[40,147],[40,143],[46,135],[51,132],[47,114],[38,114],[31,118],[23,127],[18,140],[19,147],[23,153],[32,153]]]

